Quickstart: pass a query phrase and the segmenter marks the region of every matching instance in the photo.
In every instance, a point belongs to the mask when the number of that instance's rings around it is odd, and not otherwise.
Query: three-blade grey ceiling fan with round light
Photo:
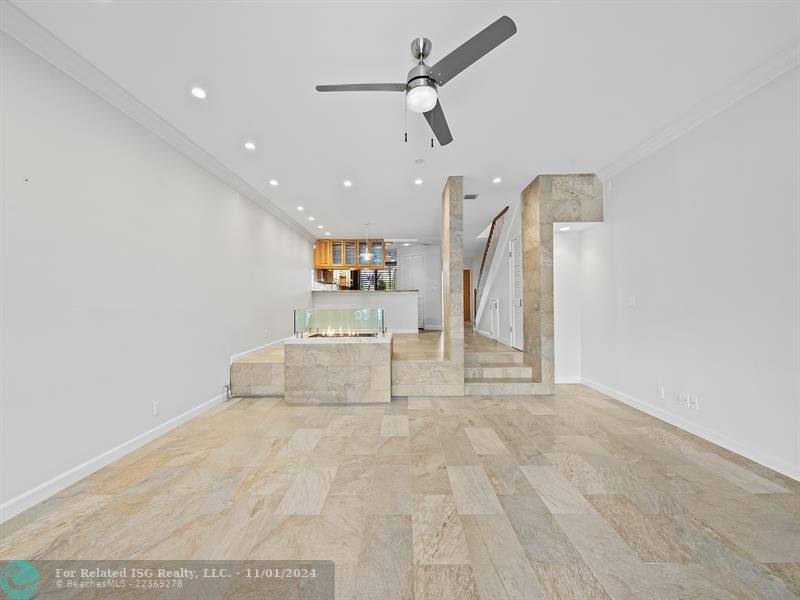
[[[411,55],[419,61],[408,72],[406,83],[351,83],[343,85],[318,85],[318,92],[405,92],[409,110],[422,113],[428,121],[439,144],[453,141],[447,125],[437,88],[443,86],[481,57],[489,54],[517,32],[509,17],[500,17],[486,29],[477,33],[433,66],[425,64],[431,52],[431,41],[419,37],[411,42]]]

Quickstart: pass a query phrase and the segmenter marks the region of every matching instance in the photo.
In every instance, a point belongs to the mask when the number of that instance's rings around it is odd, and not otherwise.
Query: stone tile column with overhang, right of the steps
[[[596,175],[539,175],[522,191],[522,296],[525,364],[544,394],[555,391],[553,223],[603,220]]]

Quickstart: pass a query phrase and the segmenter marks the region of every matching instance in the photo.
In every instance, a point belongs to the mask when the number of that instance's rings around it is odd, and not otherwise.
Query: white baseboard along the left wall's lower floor
[[[36,506],[40,502],[47,500],[73,483],[80,481],[84,477],[88,477],[95,471],[105,467],[119,458],[122,458],[126,454],[133,452],[137,448],[144,446],[146,443],[164,435],[172,429],[175,429],[192,417],[195,417],[209,410],[210,408],[221,404],[224,400],[225,394],[220,394],[219,396],[211,398],[211,400],[206,400],[202,404],[187,410],[177,417],[173,417],[169,421],[165,421],[160,425],[156,425],[152,429],[145,431],[134,438],[131,438],[127,442],[123,442],[119,446],[111,448],[110,450],[107,450],[102,454],[95,456],[94,458],[90,458],[86,462],[61,473],[60,475],[56,475],[52,479],[37,485],[33,489],[23,492],[22,494],[3,502],[0,504],[0,523],[8,521],[12,517],[28,510],[32,506]]]

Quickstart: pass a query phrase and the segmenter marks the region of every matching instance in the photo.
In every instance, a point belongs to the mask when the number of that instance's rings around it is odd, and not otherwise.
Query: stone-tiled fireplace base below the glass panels
[[[380,338],[287,340],[289,404],[391,401],[392,335]]]

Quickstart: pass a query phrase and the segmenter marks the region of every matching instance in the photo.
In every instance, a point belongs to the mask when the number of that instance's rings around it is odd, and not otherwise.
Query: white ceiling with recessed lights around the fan
[[[601,170],[796,42],[800,24],[798,2],[15,3],[314,235],[370,222],[371,236],[435,241],[444,180],[464,175],[480,194],[468,255],[537,174]],[[412,38],[432,40],[434,63],[503,14],[517,35],[440,90],[447,147],[412,113],[403,142],[402,94],[314,91],[404,81]]]

